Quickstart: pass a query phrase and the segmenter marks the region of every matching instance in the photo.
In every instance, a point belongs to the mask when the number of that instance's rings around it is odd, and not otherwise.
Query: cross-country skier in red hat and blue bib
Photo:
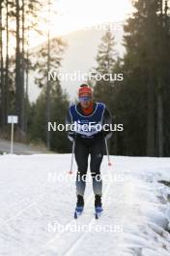
[[[71,105],[67,115],[68,124],[77,124],[77,128],[74,131],[70,130],[68,134],[70,141],[74,142],[74,155],[78,167],[75,182],[77,196],[75,212],[81,214],[84,207],[88,157],[91,155],[90,169],[95,194],[95,209],[100,213],[102,211],[102,180],[99,169],[105,149],[105,140],[111,137],[112,117],[103,103],[93,100],[92,88],[87,84],[79,87],[78,100],[78,104]],[[103,124],[107,124],[107,129],[105,129],[107,131],[103,130]]]

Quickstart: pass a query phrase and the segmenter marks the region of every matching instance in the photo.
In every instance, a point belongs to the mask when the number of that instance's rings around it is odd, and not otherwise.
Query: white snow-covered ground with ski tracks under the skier
[[[71,154],[0,156],[1,256],[169,256],[170,159],[104,157],[103,215],[89,181],[74,220]]]

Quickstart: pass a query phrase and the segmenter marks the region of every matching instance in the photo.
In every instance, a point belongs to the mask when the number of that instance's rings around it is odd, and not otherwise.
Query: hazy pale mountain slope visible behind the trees
[[[104,34],[104,24],[93,26],[87,29],[71,32],[62,36],[63,40],[68,44],[68,48],[63,56],[62,74],[84,74],[88,73],[92,67],[96,66],[96,55],[100,44],[100,39]],[[123,25],[114,27],[113,34],[115,35],[117,54],[123,55],[125,48],[122,46],[123,40]],[[65,88],[71,97],[71,100],[76,96],[76,90],[79,84],[84,80],[62,80],[62,87]],[[29,97],[31,101],[35,101],[40,93],[40,89],[34,84],[34,78],[30,78]]]

